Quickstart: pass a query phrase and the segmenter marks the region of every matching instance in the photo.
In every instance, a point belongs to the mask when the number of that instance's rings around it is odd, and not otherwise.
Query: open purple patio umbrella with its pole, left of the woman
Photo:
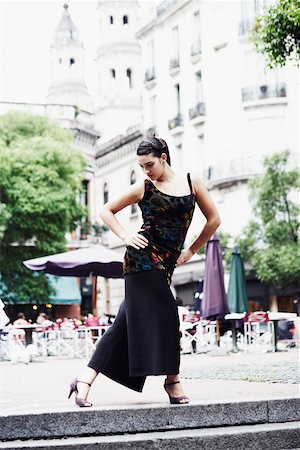
[[[123,277],[123,256],[107,247],[95,247],[28,259],[23,264],[30,270],[70,277],[93,276],[93,310],[96,311],[97,276]]]

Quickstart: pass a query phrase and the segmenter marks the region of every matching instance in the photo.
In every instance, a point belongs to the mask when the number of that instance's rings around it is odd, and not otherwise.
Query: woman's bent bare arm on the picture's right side
[[[186,263],[195,253],[197,253],[197,251],[214,234],[221,223],[217,208],[202,182],[198,178],[195,178],[192,180],[192,184],[196,195],[196,202],[206,218],[206,224],[189,248],[181,252],[176,267]]]

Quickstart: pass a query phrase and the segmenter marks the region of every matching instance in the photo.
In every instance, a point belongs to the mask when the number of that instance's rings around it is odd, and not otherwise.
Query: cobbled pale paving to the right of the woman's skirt
[[[186,379],[243,380],[300,384],[299,349],[259,355],[183,355],[181,375]],[[188,361],[187,361],[188,358]]]

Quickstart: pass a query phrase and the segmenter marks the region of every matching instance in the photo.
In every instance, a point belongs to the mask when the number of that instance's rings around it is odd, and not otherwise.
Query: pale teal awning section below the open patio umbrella
[[[81,303],[81,294],[76,277],[47,275],[47,278],[56,291],[56,294],[49,298],[49,303],[53,305]]]

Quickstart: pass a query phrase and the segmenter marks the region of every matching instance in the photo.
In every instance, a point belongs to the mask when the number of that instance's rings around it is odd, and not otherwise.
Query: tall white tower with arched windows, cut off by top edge
[[[96,125],[104,141],[142,121],[141,49],[135,38],[139,2],[98,2]]]

